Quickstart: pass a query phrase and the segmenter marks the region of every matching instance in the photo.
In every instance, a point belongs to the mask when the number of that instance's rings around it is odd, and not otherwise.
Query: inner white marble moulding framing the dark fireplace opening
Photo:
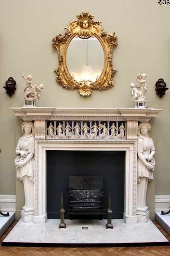
[[[125,222],[137,222],[136,217],[136,141],[58,141],[35,142],[35,215],[34,222],[47,220],[46,155],[47,151],[123,151],[125,152]],[[60,196],[59,196],[60,198]]]

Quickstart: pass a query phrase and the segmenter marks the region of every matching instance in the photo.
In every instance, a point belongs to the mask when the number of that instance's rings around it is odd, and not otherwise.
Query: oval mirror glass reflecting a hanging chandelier
[[[102,73],[104,58],[102,45],[97,38],[74,37],[67,49],[66,63],[69,73],[71,76],[74,75],[75,80],[96,81],[96,77]],[[88,68],[88,71],[86,67],[83,68],[87,64],[92,70]]]

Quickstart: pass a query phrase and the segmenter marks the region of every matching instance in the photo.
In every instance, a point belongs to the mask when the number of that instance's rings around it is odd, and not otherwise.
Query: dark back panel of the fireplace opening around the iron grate
[[[112,218],[123,218],[125,189],[125,151],[46,151],[47,154],[47,214],[60,218],[61,192],[68,209],[69,176],[103,176],[104,209],[108,208],[111,192]],[[65,215],[69,218],[69,215]],[[98,218],[96,215],[76,215],[73,218]],[[107,215],[103,215],[107,218]]]

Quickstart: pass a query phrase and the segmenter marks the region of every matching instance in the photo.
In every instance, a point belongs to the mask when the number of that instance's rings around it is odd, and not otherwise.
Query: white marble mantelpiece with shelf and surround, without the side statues
[[[138,122],[149,122],[153,116],[161,111],[160,109],[90,109],[90,108],[12,108],[17,116],[23,121],[33,121],[35,129],[35,185],[34,185],[34,214],[28,220],[35,223],[45,223],[47,220],[47,155],[49,151],[105,151],[120,152],[125,154],[125,178],[124,178],[124,207],[123,219],[126,223],[136,223],[136,165],[137,165],[137,128]],[[59,125],[66,127],[67,123],[71,126],[79,126],[79,136],[72,132],[71,137],[59,129],[56,134],[49,137],[48,125]],[[89,134],[83,131],[85,123],[90,128]],[[117,128],[116,135],[111,137],[111,127]],[[92,127],[100,127],[100,133],[94,136]],[[125,133],[119,131],[120,126],[125,128]],[[72,128],[73,128],[72,126]],[[54,127],[55,128],[55,127]],[[104,130],[109,131],[104,134]],[[55,130],[56,130],[55,129]],[[103,135],[104,134],[104,135]],[[86,136],[85,136],[86,135]],[[110,153],[109,153],[110,154]],[[123,190],[122,190],[123,191]],[[113,198],[114,195],[112,195]],[[60,195],[59,195],[60,198]]]

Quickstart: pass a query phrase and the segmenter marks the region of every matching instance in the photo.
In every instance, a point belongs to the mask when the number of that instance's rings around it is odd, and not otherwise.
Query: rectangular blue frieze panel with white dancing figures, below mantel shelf
[[[46,139],[126,140],[126,122],[47,121]]]

